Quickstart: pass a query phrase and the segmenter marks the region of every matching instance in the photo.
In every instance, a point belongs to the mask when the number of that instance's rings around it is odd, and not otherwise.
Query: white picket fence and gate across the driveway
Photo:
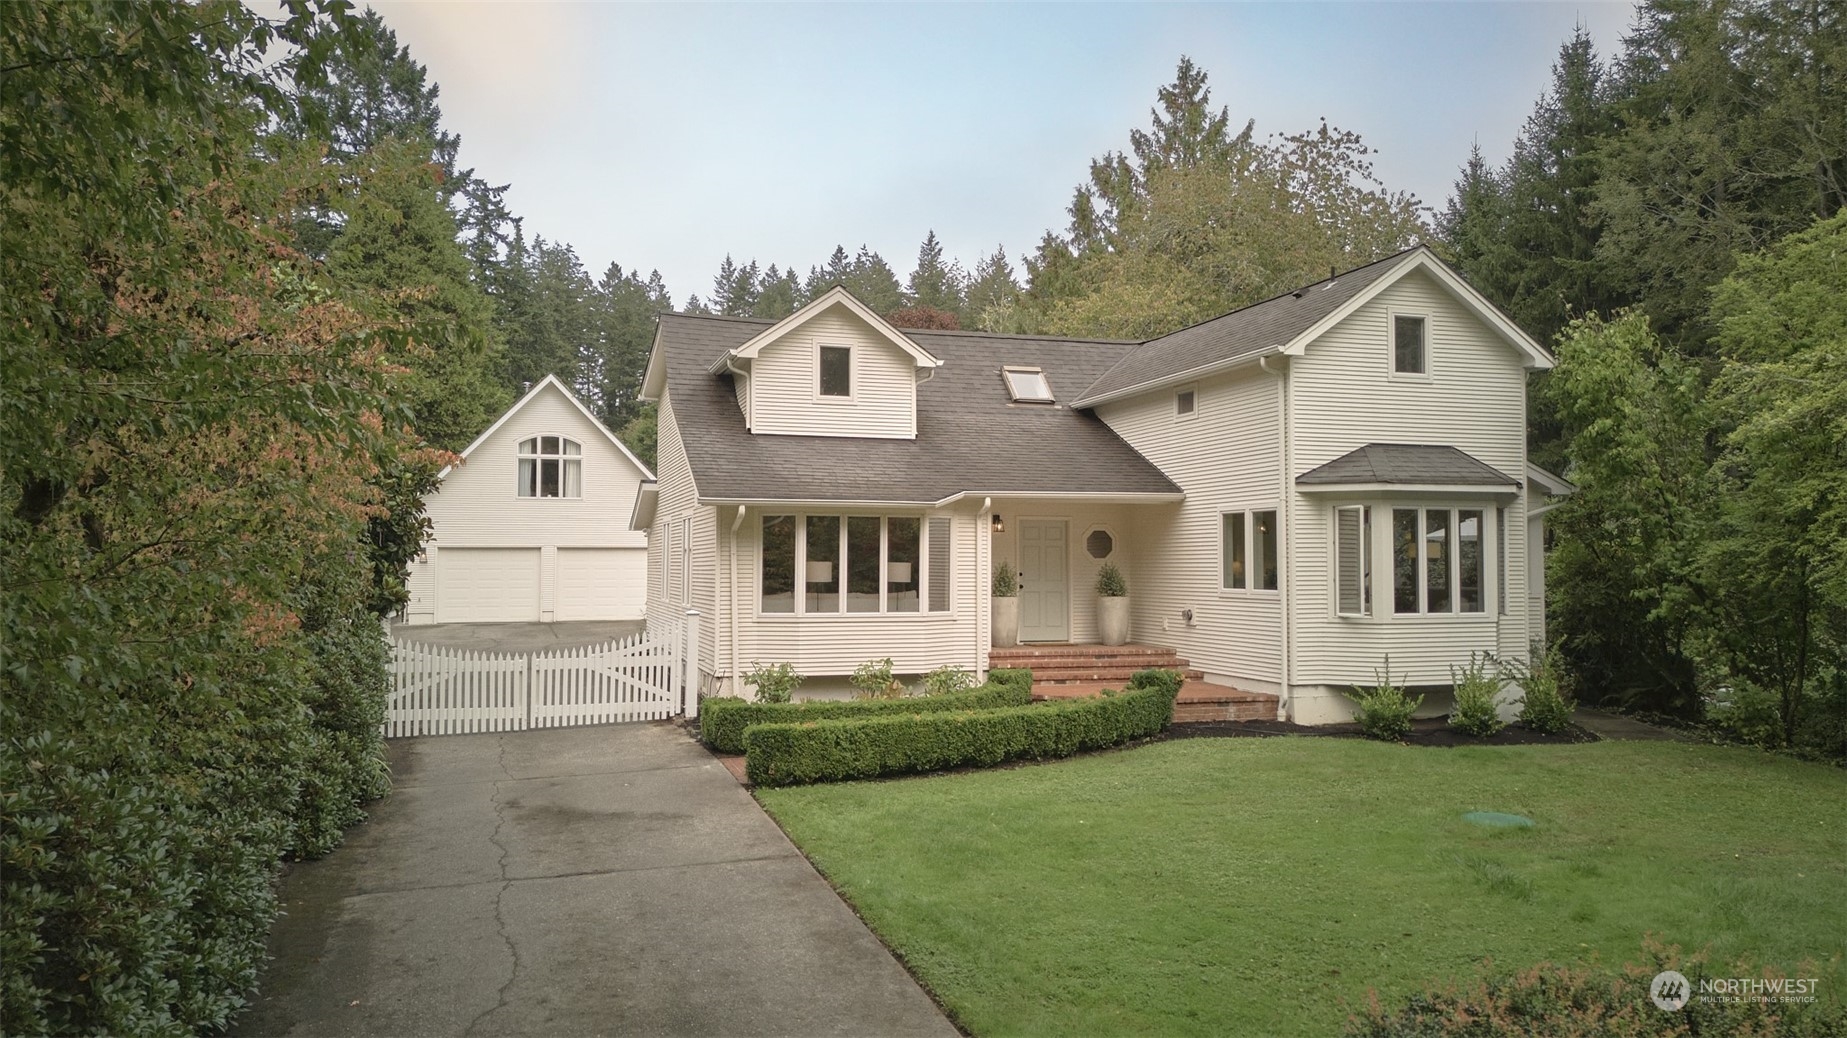
[[[634,637],[545,652],[392,639],[384,735],[467,735],[698,717],[698,613]]]

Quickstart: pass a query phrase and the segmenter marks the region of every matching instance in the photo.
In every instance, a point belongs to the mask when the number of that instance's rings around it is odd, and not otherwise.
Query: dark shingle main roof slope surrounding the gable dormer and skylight
[[[707,501],[935,502],[957,493],[1180,493],[1110,427],[1066,404],[1016,404],[1003,364],[1040,366],[1069,401],[1130,344],[905,331],[946,364],[918,384],[916,440],[754,436],[724,351],[772,321],[663,314],[667,393]]]

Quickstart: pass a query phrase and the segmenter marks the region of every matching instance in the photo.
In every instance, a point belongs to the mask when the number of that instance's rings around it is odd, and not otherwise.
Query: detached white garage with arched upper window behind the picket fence
[[[406,622],[641,619],[648,541],[626,517],[654,475],[556,377],[440,478]]]

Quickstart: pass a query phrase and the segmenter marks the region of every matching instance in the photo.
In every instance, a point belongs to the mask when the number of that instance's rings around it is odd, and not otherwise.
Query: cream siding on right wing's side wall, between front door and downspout
[[[1171,390],[1097,408],[1186,491],[1180,504],[1134,510],[1132,637],[1173,646],[1208,676],[1250,685],[1280,682],[1280,595],[1219,587],[1219,515],[1282,506],[1280,386],[1250,368],[1199,382],[1189,417],[1175,416]],[[1193,626],[1184,610],[1193,610]]]

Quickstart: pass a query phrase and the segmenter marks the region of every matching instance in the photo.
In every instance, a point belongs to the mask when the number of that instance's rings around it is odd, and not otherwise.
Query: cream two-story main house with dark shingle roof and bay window
[[[1343,720],[1387,658],[1437,687],[1542,637],[1550,366],[1426,247],[1149,342],[901,331],[840,288],[781,321],[665,314],[648,615],[698,610],[711,693],[754,663],[984,672],[999,563],[1020,639],[1060,646],[1097,641],[1116,563],[1132,641]]]

